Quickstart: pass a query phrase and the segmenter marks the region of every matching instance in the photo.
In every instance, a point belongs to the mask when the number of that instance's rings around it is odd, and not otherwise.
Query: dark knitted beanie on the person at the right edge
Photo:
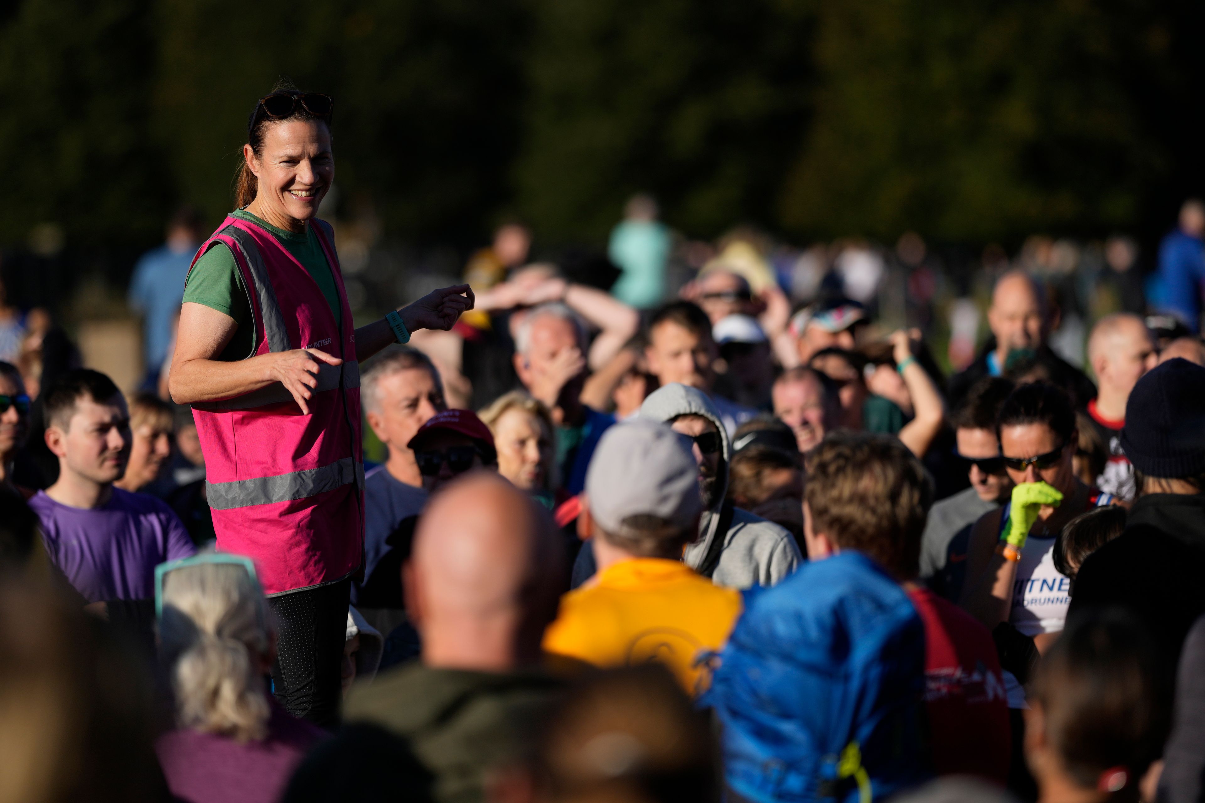
[[[1125,403],[1122,449],[1148,477],[1205,473],[1205,368],[1176,358],[1139,379]]]

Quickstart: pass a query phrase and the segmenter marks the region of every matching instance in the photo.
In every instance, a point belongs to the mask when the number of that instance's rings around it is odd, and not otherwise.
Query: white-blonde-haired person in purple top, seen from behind
[[[175,727],[155,739],[155,752],[172,796],[278,801],[306,750],[327,734],[268,691],[276,631],[254,565],[223,553],[163,563],[154,600],[175,703]]]

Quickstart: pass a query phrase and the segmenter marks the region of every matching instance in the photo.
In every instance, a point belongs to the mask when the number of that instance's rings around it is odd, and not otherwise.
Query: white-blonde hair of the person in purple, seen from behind
[[[159,639],[181,727],[240,742],[268,734],[268,696],[255,666],[271,645],[268,603],[243,567],[199,563],[170,572]]]

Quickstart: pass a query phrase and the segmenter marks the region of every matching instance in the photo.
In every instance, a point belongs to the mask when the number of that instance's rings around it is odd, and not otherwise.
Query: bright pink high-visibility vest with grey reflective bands
[[[193,258],[195,266],[219,242],[234,254],[254,326],[247,358],[312,347],[343,359],[322,364],[308,415],[278,382],[193,405],[218,549],[251,557],[266,594],[341,580],[364,551],[355,335],[331,231],[315,223],[339,288],[342,331],[310,272],[249,220],[228,217]]]

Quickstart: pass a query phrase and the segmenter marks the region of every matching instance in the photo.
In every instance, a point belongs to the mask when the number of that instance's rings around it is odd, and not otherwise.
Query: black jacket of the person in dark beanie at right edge
[[[1125,532],[1083,561],[1068,619],[1092,607],[1135,613],[1174,671],[1188,630],[1205,613],[1205,494],[1146,494]]]

